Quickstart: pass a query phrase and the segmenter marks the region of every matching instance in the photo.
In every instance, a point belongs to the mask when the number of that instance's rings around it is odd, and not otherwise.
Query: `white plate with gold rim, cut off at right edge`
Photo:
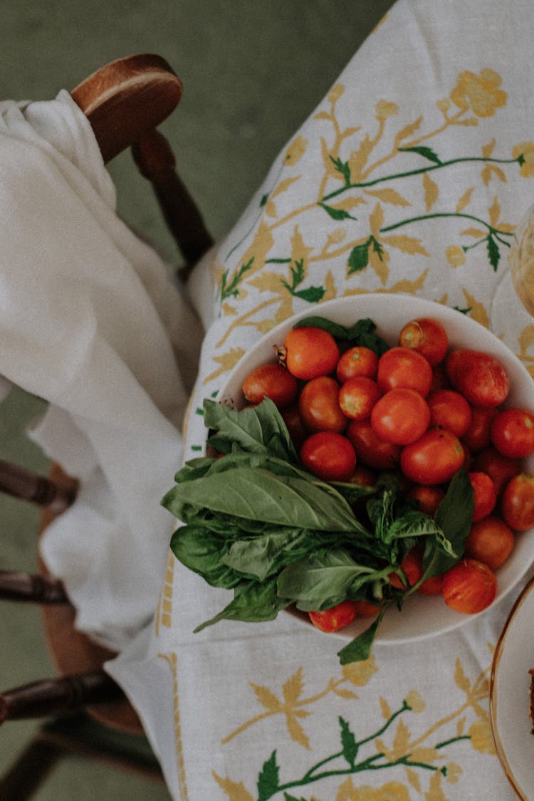
[[[490,718],[497,754],[520,799],[534,799],[534,734],[528,714],[534,668],[534,577],[521,591],[497,642]]]

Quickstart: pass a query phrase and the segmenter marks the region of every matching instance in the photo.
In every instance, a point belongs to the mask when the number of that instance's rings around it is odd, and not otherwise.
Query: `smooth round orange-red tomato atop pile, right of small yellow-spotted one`
[[[380,439],[394,445],[408,445],[424,434],[430,422],[430,409],[415,389],[390,389],[376,401],[371,426]]]

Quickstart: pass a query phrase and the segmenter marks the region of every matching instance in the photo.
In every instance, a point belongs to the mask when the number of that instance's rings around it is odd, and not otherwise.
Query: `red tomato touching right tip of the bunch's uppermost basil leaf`
[[[304,440],[300,461],[323,481],[351,481],[356,455],[343,434],[319,431]]]

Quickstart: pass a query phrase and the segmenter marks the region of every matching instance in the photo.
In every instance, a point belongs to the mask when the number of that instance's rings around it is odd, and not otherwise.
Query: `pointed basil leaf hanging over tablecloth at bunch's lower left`
[[[219,620],[241,620],[259,623],[274,620],[280,610],[289,606],[291,601],[279,598],[276,593],[276,578],[267,582],[242,582],[234,590],[234,598],[215,617],[197,626],[195,633]]]

